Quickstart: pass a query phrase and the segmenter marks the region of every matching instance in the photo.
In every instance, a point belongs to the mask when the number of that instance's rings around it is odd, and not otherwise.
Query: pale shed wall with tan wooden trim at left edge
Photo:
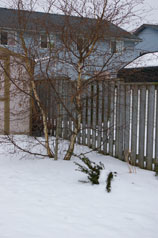
[[[0,134],[30,133],[27,79],[23,58],[0,47]]]

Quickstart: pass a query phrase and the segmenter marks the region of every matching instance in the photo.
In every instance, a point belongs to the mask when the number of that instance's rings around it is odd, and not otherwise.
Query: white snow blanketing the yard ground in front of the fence
[[[26,136],[16,140],[25,148],[35,144]],[[66,147],[67,142],[60,144],[54,161],[0,144],[0,238],[158,237],[154,172],[137,168],[130,174],[125,162],[90,152],[87,156],[104,163],[105,170],[99,185],[81,183],[86,175],[75,171],[79,160],[63,160]],[[78,145],[75,153],[87,151]],[[105,191],[109,171],[117,172],[111,193]]]

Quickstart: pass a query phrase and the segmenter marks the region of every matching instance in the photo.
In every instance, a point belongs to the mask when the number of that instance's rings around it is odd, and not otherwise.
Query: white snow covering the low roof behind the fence
[[[137,59],[129,63],[125,67],[125,69],[153,66],[158,66],[158,52],[148,53],[138,57]]]

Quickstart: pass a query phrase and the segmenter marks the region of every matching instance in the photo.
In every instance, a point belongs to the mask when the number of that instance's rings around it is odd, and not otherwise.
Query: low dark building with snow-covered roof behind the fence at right
[[[158,82],[158,52],[146,53],[118,72],[126,83]]]

